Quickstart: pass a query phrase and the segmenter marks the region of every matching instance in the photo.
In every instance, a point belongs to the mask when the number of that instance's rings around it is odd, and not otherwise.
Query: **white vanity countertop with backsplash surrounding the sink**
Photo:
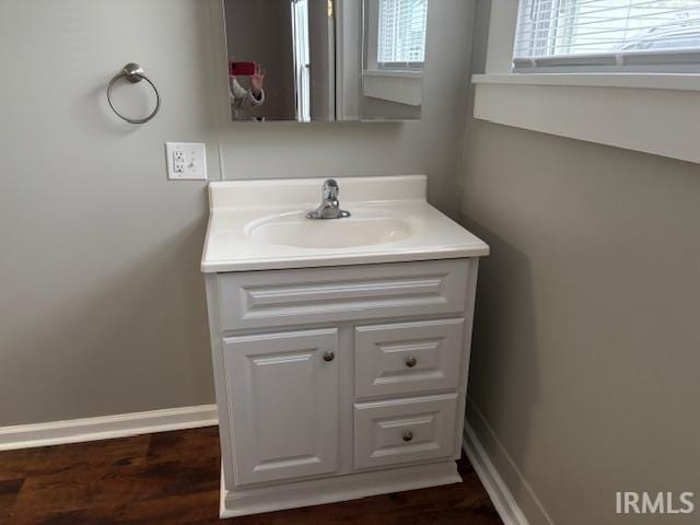
[[[272,244],[249,235],[252,224],[281,214],[303,218],[320,201],[325,178],[210,183],[211,211],[201,259],[206,273],[480,257],[489,246],[425,201],[423,175],[337,178],[338,220],[307,220],[310,235],[342,238],[343,223],[375,214],[400,218],[411,235],[394,242],[341,247]],[[304,219],[306,221],[306,219]],[[302,223],[306,228],[306,223]],[[322,230],[323,229],[323,230]],[[340,243],[341,244],[341,243]]]

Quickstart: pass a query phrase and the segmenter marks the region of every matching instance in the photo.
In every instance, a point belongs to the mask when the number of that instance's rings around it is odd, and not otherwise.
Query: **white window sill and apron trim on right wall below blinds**
[[[474,75],[475,118],[700,163],[700,75]]]

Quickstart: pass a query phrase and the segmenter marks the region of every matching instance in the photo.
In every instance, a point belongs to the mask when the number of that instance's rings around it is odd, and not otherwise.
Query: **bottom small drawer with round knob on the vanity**
[[[452,456],[457,397],[444,394],[355,404],[355,468]]]

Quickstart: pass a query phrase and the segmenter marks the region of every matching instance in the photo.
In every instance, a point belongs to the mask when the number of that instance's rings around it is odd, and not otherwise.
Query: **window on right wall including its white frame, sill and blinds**
[[[475,118],[700,164],[699,0],[489,7]]]

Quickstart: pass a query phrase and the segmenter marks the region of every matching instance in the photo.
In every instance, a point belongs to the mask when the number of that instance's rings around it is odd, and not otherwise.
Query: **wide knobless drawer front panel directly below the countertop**
[[[465,310],[468,259],[217,276],[223,330]]]

